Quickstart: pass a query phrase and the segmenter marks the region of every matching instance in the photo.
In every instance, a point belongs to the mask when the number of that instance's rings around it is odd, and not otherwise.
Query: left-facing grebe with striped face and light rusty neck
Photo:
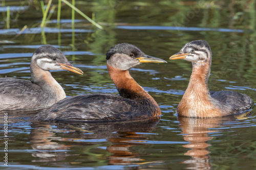
[[[209,91],[207,81],[210,75],[211,50],[206,41],[191,41],[170,59],[184,59],[193,65],[188,87],[177,108],[178,115],[219,117],[251,108],[253,101],[245,94],[235,91]]]

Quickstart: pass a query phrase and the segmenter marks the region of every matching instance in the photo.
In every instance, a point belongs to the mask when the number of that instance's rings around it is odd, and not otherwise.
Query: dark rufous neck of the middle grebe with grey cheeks
[[[128,70],[120,70],[108,65],[108,71],[119,94],[123,98],[136,101],[143,106],[152,108],[154,116],[160,115],[160,108],[157,102],[131,77]]]

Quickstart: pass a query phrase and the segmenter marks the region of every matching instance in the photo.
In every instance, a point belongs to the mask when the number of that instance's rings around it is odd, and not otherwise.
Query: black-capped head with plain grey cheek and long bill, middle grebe
[[[106,60],[109,66],[120,70],[129,70],[145,62],[167,63],[162,59],[146,55],[137,46],[129,43],[120,43],[111,47],[106,53]]]

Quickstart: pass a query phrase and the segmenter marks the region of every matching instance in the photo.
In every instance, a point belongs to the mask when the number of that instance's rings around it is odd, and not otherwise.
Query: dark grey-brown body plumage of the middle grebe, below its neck
[[[135,101],[115,94],[85,94],[63,99],[46,111],[37,114],[35,118],[67,120],[144,118],[151,117],[154,109],[157,107],[148,109]]]

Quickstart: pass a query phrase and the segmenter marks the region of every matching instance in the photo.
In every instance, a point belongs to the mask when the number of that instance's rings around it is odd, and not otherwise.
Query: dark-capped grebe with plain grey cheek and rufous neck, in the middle
[[[129,74],[129,69],[143,63],[166,61],[145,55],[137,46],[129,43],[117,44],[106,53],[107,67],[119,95],[82,94],[63,99],[35,119],[55,120],[124,120],[148,118],[161,114],[160,108]]]

